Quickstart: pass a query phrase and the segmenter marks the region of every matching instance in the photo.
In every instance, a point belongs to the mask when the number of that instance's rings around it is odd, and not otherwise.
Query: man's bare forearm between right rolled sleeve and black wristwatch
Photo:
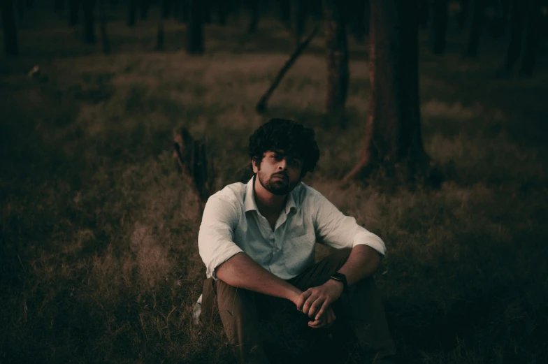
[[[356,245],[343,267],[338,272],[346,276],[347,284],[361,281],[361,279],[372,275],[379,267],[379,253],[368,245]]]

